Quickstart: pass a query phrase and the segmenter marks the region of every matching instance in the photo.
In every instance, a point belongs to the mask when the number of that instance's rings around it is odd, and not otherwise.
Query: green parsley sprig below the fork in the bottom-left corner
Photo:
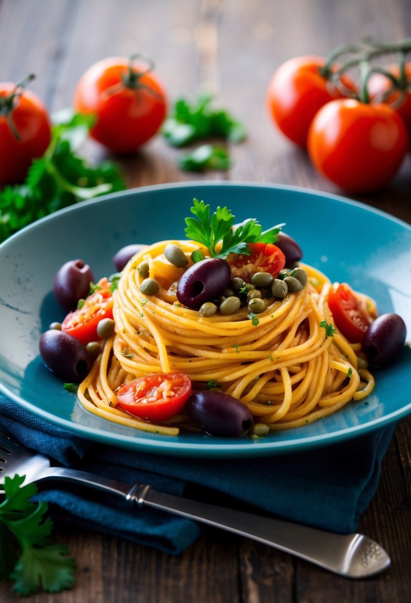
[[[28,596],[40,586],[49,593],[71,589],[75,561],[67,557],[64,546],[54,545],[50,534],[53,523],[45,517],[46,502],[31,502],[35,484],[22,485],[24,476],[4,480],[5,499],[0,504],[0,578],[14,581],[13,590]],[[20,558],[10,553],[13,537],[20,547]]]

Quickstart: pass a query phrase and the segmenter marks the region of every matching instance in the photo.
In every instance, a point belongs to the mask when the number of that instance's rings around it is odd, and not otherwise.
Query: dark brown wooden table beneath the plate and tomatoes
[[[340,193],[313,171],[303,151],[274,130],[265,90],[287,58],[326,54],[365,34],[391,40],[411,31],[409,0],[0,0],[0,79],[34,72],[31,88],[49,110],[71,104],[80,75],[110,55],[146,51],[169,97],[193,96],[202,84],[245,122],[248,140],[233,147],[224,178],[305,186]],[[100,159],[97,145],[86,153]],[[121,160],[130,187],[198,179],[177,168],[177,151],[161,137]],[[355,197],[411,223],[411,166],[389,188]],[[209,531],[181,557],[83,529],[60,528],[56,539],[77,558],[77,584],[30,601],[234,603],[278,601],[409,601],[411,593],[411,418],[398,425],[380,485],[360,530],[389,551],[392,566],[350,581],[267,546]],[[4,602],[17,599],[0,585]]]

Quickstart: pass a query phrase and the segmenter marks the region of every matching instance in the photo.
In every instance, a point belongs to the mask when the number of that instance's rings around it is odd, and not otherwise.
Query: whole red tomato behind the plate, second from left
[[[74,107],[95,115],[90,134],[102,145],[114,153],[131,153],[162,125],[166,95],[150,62],[111,57],[92,65],[80,78]]]

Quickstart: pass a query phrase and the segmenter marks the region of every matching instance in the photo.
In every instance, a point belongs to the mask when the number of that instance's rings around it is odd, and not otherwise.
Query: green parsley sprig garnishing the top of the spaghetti
[[[235,216],[227,207],[217,207],[210,216],[210,206],[204,201],[193,200],[190,212],[195,215],[186,218],[186,236],[192,241],[204,245],[212,257],[225,258],[230,253],[251,254],[248,243],[275,243],[282,225],[274,226],[262,232],[262,227],[256,219],[246,219],[236,229]],[[221,248],[216,250],[221,241]]]

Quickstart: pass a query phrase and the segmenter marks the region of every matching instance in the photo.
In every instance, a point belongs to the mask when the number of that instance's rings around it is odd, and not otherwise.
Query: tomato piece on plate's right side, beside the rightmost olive
[[[335,326],[348,341],[362,343],[372,318],[363,309],[363,304],[350,285],[341,283],[337,289],[331,288],[328,293],[328,306],[333,314]]]

